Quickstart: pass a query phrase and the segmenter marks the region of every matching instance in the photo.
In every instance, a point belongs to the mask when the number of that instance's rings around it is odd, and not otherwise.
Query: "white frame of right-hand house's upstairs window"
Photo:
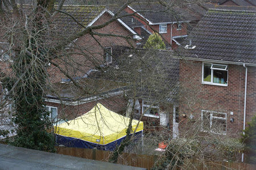
[[[210,66],[210,82],[204,82],[204,64],[211,64],[212,65],[212,66]],[[225,69],[214,68],[213,65],[225,66]],[[226,71],[226,74],[227,74],[226,84],[213,83],[213,70]],[[202,64],[202,84],[210,84],[210,85],[216,85],[216,86],[228,86],[228,79],[229,79],[228,65],[221,65],[221,64],[216,64],[216,63],[203,62],[203,64]]]

